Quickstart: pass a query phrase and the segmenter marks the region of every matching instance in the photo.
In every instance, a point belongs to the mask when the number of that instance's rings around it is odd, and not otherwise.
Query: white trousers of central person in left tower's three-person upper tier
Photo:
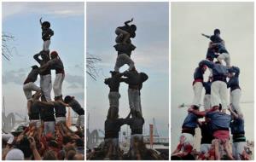
[[[47,101],[50,101],[50,92],[52,89],[52,84],[51,84],[51,75],[41,75],[40,76],[40,87],[44,93],[45,99]]]

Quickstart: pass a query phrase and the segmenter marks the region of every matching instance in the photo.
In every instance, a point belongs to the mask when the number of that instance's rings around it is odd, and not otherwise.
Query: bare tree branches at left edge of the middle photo
[[[96,68],[96,62],[102,61],[99,58],[96,58],[93,55],[86,55],[86,73],[96,80],[96,77],[98,75],[97,68]]]

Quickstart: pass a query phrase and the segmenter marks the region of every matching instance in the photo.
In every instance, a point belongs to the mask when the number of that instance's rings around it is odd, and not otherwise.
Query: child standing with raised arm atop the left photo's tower
[[[42,22],[42,18],[40,18],[40,25],[42,28],[42,39],[43,43],[43,50],[49,50],[50,38],[54,35],[53,30],[51,30],[49,21]]]

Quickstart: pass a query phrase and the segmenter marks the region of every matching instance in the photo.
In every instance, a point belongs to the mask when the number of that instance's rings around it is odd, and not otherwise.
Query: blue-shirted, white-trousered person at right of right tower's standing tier
[[[239,86],[239,74],[239,67],[231,67],[230,72],[228,73],[228,78],[230,78],[230,80],[227,85],[228,88],[230,88],[230,103],[236,110],[237,114],[242,116],[240,107],[241,88]]]

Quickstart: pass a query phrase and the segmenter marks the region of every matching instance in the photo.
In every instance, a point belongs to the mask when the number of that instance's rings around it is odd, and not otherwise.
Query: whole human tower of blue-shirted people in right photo
[[[247,153],[245,121],[240,106],[240,69],[231,66],[230,53],[225,48],[219,29],[215,29],[212,36],[202,35],[210,39],[207,58],[200,61],[195,68],[193,103],[183,121],[182,133],[177,148],[172,153],[172,159],[250,159]],[[205,82],[207,68],[210,75]],[[200,110],[203,89],[204,110]],[[197,127],[201,129],[201,147],[198,154],[193,146]]]

